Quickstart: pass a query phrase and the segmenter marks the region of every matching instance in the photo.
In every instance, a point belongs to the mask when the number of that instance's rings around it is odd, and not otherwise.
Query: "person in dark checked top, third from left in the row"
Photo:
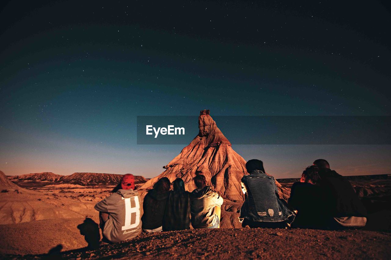
[[[190,192],[181,178],[172,183],[163,217],[163,231],[190,229]]]

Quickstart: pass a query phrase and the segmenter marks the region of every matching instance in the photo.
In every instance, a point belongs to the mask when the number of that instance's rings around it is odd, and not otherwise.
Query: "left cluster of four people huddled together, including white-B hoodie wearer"
[[[145,195],[140,217],[135,177],[124,175],[113,193],[95,205],[102,241],[120,242],[142,231],[186,230],[190,229],[190,222],[193,228],[219,228],[222,197],[206,185],[204,175],[195,176],[193,181],[197,189],[190,193],[181,178],[174,180],[173,190],[169,178],[160,178]]]

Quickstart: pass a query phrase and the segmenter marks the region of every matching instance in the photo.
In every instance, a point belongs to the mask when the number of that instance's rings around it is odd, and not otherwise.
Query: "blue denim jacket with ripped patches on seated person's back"
[[[240,208],[240,218],[250,221],[293,222],[295,215],[278,198],[273,176],[253,171],[250,175],[243,176],[242,183],[247,191]]]

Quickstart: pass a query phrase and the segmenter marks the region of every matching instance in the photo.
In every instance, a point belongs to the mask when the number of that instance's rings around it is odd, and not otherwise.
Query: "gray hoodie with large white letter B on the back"
[[[119,189],[98,202],[95,209],[109,214],[102,233],[110,242],[121,242],[140,234],[140,196],[138,196],[138,191]]]

